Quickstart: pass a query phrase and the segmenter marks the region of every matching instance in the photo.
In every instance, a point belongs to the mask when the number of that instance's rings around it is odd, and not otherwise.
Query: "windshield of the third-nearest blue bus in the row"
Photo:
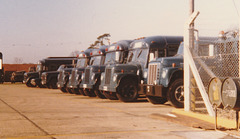
[[[120,61],[121,61],[121,52],[115,51],[115,52],[110,52],[106,54],[104,63],[105,64],[119,63]]]

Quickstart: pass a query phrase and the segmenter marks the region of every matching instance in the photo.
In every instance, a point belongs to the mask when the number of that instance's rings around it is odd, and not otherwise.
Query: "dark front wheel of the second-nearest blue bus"
[[[138,98],[137,85],[132,80],[123,82],[117,91],[117,97],[123,102],[133,102]]]

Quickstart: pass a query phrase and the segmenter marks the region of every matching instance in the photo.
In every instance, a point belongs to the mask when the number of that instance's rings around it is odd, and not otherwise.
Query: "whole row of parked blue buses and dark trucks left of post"
[[[76,57],[49,57],[24,74],[29,87],[133,102],[184,106],[183,37],[152,36],[87,49]]]

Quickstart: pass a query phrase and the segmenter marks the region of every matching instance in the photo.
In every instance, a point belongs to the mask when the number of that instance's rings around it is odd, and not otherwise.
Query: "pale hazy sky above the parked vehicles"
[[[235,6],[234,6],[235,4]],[[195,0],[202,34],[238,27],[239,0]],[[37,63],[87,49],[104,33],[111,43],[183,35],[189,0],[0,0],[4,63]]]

